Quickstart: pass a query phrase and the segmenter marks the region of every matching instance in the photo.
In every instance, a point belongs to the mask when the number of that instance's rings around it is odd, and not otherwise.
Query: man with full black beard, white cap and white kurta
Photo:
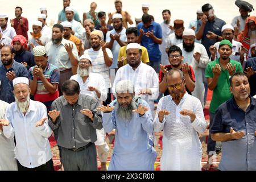
[[[188,63],[192,66],[195,72],[195,90],[192,92],[192,96],[198,98],[204,106],[204,72],[207,64],[210,62],[207,55],[207,51],[203,44],[195,43],[196,34],[191,28],[185,28],[183,32],[183,43],[178,44],[182,50],[184,56],[184,63]]]

